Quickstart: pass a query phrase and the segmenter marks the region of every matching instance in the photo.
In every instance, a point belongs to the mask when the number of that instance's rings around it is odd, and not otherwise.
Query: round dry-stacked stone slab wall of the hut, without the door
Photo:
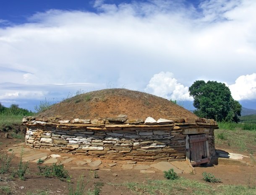
[[[214,120],[59,120],[58,117],[24,117],[26,146],[33,148],[134,161],[172,161],[186,158],[186,136],[205,133],[214,156]]]

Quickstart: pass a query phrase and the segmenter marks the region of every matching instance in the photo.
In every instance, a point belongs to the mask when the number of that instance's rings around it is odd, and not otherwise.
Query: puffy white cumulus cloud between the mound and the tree
[[[155,74],[146,86],[145,92],[169,100],[193,101],[193,98],[189,96],[188,87],[178,83],[177,79],[170,72]]]

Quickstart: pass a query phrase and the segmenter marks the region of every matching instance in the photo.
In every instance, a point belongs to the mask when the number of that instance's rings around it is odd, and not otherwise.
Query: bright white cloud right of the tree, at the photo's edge
[[[242,75],[228,87],[235,100],[256,99],[256,73]]]

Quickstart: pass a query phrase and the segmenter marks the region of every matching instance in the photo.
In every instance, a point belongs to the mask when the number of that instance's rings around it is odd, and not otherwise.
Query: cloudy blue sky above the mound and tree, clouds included
[[[77,90],[128,88],[193,101],[226,83],[256,109],[254,0],[8,0],[0,6],[0,102],[33,109]]]

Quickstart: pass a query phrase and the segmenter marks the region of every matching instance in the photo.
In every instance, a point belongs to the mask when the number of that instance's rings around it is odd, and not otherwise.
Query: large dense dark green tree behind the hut
[[[194,113],[217,121],[239,121],[242,106],[235,101],[230,89],[217,81],[195,81],[188,89],[193,96]]]

